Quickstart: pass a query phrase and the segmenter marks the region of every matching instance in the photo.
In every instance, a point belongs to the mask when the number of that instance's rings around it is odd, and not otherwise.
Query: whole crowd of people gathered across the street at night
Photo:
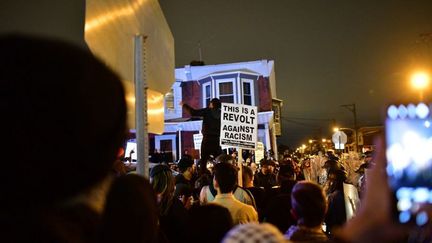
[[[412,232],[430,241],[430,225],[392,221],[380,144],[375,163],[356,168],[368,174],[349,221],[346,166],[334,154],[322,157],[322,178],[289,155],[242,164],[212,126],[205,159],[185,155],[176,173],[158,164],[147,180],[119,163],[127,111],[115,73],[56,40],[3,36],[0,53],[1,149],[12,157],[0,177],[2,242],[403,242]],[[211,103],[187,109],[211,120],[220,107]]]

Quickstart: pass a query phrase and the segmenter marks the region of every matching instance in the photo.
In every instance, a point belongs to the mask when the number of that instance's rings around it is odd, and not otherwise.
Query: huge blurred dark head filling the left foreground
[[[127,132],[119,77],[57,40],[2,36],[0,53],[2,201],[49,207],[102,181]]]

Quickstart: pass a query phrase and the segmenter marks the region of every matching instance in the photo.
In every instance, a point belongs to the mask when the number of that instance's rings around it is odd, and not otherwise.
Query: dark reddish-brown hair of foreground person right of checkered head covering
[[[326,197],[322,188],[307,181],[298,182],[291,193],[291,205],[297,222],[306,227],[322,224],[327,210]]]

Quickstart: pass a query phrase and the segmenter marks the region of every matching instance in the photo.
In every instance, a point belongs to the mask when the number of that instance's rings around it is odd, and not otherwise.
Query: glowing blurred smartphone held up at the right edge
[[[432,118],[424,103],[390,105],[385,122],[387,175],[396,219],[422,226],[432,203]]]

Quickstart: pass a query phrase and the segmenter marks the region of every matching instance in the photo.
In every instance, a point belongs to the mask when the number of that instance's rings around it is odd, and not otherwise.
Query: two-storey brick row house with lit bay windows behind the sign
[[[161,135],[150,135],[151,151],[169,154],[176,161],[185,153],[199,158],[193,135],[200,133],[202,120],[192,118],[180,102],[199,109],[212,98],[222,102],[258,107],[258,141],[277,152],[282,101],[276,98],[274,61],[190,66],[175,70],[175,83],[165,95],[165,126]],[[172,155],[172,156],[171,156]]]

